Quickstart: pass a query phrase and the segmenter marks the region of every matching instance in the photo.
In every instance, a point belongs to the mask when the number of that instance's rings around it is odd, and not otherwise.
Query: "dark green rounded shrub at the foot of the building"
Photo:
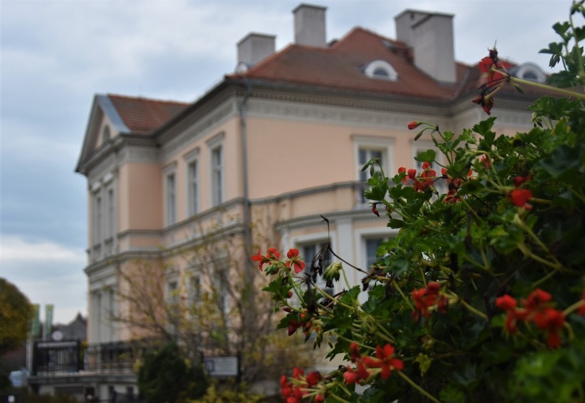
[[[148,402],[161,403],[200,398],[205,394],[207,383],[203,368],[185,360],[175,344],[146,354],[137,378],[141,397]]]

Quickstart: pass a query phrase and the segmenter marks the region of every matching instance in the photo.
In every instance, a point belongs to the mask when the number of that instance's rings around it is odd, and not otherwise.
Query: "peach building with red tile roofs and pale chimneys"
[[[330,240],[367,267],[392,232],[363,199],[363,164],[412,167],[433,144],[413,141],[410,121],[457,132],[485,117],[471,102],[477,66],[454,59],[452,15],[406,10],[395,16],[396,39],[358,27],[327,42],[325,8],[302,4],[293,14],[295,43],[276,51],[274,36],[249,34],[236,71],[194,103],[95,95],[76,167],[88,184],[90,351],[135,337],[108,321],[128,308],[115,297],[117,267],[165,260],[215,221],[245,245],[251,223],[270,223],[282,249],[306,260]],[[534,64],[511,67],[544,80]],[[533,99],[498,93],[496,130],[526,130]],[[100,398],[133,391],[131,373],[113,374],[95,378]]]

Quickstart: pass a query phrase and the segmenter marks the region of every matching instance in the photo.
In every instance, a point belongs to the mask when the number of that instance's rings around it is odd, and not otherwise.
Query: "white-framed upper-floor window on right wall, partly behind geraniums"
[[[380,164],[374,164],[374,171],[380,171],[380,165],[385,173],[389,175],[389,169],[392,166],[393,138],[391,137],[374,137],[363,136],[359,134],[352,135],[354,142],[354,160],[356,161],[356,180],[363,182],[359,188],[358,202],[365,203],[363,195],[365,182],[370,178],[370,169],[362,171],[362,167],[372,158],[380,160]]]

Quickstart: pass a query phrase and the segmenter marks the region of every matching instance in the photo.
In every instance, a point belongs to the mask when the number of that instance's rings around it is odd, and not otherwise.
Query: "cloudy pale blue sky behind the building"
[[[249,32],[293,42],[292,10],[327,7],[327,39],[395,38],[403,10],[455,14],[455,58],[536,62],[570,0],[0,0],[0,277],[55,322],[87,315],[87,182],[75,167],[93,96],[194,101],[236,67]],[[582,21],[581,21],[582,23]],[[41,308],[42,310],[42,308]]]

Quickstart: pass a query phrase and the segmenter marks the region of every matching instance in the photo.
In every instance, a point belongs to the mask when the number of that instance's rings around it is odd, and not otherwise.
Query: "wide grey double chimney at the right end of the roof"
[[[404,10],[394,21],[396,39],[413,48],[415,66],[437,81],[454,83],[453,14]]]

